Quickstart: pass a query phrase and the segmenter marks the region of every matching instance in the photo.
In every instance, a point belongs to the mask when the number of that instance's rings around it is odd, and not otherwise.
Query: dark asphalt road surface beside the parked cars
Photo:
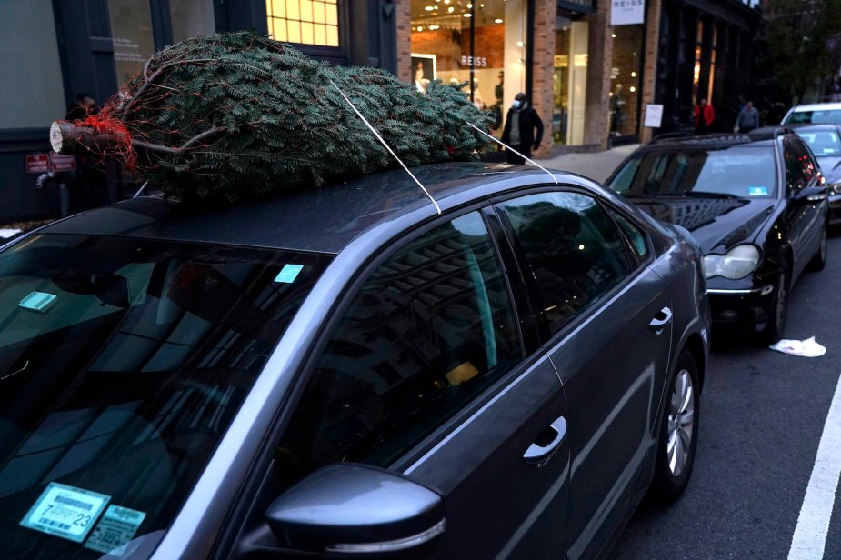
[[[714,329],[686,494],[665,509],[641,505],[611,558],[788,556],[841,375],[838,232],[829,240],[826,269],[804,273],[793,287],[785,335],[814,335],[826,355],[803,358],[753,341],[718,340]],[[841,494],[823,558],[841,559]]]

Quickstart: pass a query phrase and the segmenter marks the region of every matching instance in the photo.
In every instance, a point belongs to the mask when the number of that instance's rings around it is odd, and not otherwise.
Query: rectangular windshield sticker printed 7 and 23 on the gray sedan
[[[20,525],[81,543],[110,500],[110,495],[51,482]]]

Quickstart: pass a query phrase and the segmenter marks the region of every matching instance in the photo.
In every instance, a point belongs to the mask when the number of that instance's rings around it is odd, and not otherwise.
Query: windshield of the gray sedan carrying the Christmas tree
[[[154,548],[330,259],[87,235],[0,253],[0,557]]]

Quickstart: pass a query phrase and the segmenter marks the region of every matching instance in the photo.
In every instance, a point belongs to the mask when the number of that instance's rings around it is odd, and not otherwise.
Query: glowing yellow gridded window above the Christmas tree
[[[337,0],[265,0],[265,14],[277,41],[339,46]]]

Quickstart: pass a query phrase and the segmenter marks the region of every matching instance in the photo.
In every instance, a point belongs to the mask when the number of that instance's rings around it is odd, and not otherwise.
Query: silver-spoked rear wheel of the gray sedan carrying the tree
[[[681,353],[669,384],[649,489],[649,495],[661,504],[670,504],[683,494],[695,465],[701,400],[698,368],[689,351]]]

